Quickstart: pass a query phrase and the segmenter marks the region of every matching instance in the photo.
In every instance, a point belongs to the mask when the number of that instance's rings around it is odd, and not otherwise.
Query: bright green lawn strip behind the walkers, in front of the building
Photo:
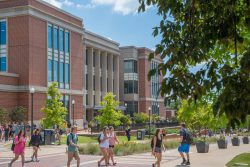
[[[66,144],[66,138],[67,136],[62,136],[62,144]],[[118,136],[118,139],[121,143],[127,141],[126,136]],[[136,137],[131,136],[131,141],[135,141]],[[56,142],[58,143],[58,141]],[[78,136],[78,144],[84,144],[84,143],[97,143],[97,137],[87,137],[87,136]]]

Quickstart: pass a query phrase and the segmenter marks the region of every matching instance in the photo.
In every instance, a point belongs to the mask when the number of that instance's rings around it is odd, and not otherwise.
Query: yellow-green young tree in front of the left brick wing
[[[57,89],[57,82],[53,82],[48,88],[46,106],[41,109],[45,114],[45,118],[42,118],[41,124],[44,128],[51,128],[54,125],[64,127],[65,116],[67,115],[67,109],[63,107],[63,103],[60,101],[61,94]]]

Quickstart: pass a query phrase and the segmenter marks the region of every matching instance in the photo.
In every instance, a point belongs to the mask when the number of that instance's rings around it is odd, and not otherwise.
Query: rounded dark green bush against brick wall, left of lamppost
[[[26,122],[27,121],[27,109],[22,106],[17,106],[12,109],[9,114],[12,122]]]

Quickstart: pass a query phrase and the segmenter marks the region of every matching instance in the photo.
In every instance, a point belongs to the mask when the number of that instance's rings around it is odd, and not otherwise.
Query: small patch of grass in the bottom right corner
[[[248,164],[250,167],[250,153],[243,153],[234,157],[230,162],[227,163],[228,167],[233,166],[243,166],[243,165],[235,165],[236,163]]]

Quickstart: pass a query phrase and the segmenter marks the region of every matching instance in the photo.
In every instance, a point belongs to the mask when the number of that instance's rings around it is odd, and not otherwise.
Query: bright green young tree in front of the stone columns
[[[121,125],[122,111],[117,110],[119,101],[115,100],[115,95],[108,92],[103,101],[100,102],[102,109],[99,110],[99,115],[95,117],[101,127],[104,126],[119,126]]]

